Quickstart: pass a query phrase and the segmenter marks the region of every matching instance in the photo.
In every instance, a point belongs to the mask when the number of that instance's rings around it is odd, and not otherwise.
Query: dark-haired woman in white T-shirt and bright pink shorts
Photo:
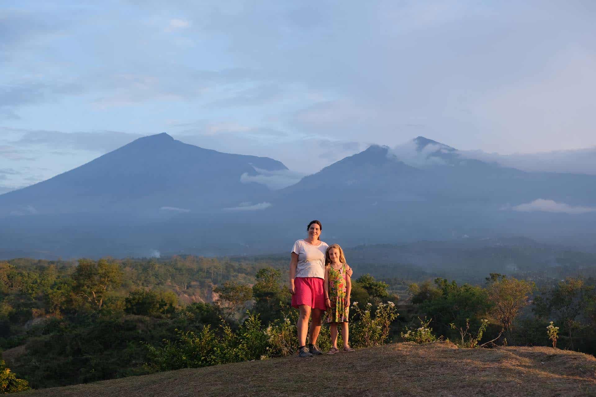
[[[292,307],[300,311],[298,323],[298,355],[312,357],[313,354],[323,354],[316,347],[316,338],[321,331],[321,315],[325,305],[325,252],[327,243],[321,241],[321,222],[311,221],[306,227],[306,238],[297,240],[291,251],[290,260],[290,292]],[[352,276],[352,269],[347,268],[348,276]],[[309,344],[306,347],[306,332],[308,318],[311,317],[309,330]]]

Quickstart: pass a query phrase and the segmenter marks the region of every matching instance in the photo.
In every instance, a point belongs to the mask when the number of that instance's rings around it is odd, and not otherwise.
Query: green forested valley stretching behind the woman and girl
[[[358,259],[366,248],[346,250],[355,347],[436,339],[551,346],[552,321],[558,348],[596,354],[592,254],[567,252],[548,268],[507,274],[495,266],[479,279],[474,255],[461,257],[466,276],[383,260],[383,247],[369,248],[377,254],[370,263]],[[0,261],[0,366],[39,389],[294,354],[287,268],[287,255]],[[318,343],[328,348],[327,326]]]

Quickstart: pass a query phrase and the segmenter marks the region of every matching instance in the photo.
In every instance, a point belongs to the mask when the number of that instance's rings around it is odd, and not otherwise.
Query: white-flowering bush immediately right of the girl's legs
[[[352,322],[350,323],[350,342],[352,346],[367,348],[383,345],[389,337],[389,329],[399,313],[393,302],[378,304],[374,317],[371,315],[373,305],[368,303],[364,310],[358,302],[352,303]],[[355,318],[357,321],[354,321]]]

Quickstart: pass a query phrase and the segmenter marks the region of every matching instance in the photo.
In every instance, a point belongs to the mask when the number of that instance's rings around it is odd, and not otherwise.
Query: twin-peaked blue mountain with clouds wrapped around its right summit
[[[502,167],[417,137],[344,158],[274,192],[271,203],[271,214],[294,223],[331,220],[331,238],[350,245],[465,235],[589,243],[596,177]]]

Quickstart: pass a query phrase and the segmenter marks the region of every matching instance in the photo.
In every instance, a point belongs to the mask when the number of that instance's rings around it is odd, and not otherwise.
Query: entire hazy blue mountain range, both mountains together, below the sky
[[[0,258],[280,252],[315,218],[325,240],[348,247],[508,236],[596,247],[592,175],[471,160],[421,136],[269,189],[288,172],[271,158],[143,137],[0,195]]]

